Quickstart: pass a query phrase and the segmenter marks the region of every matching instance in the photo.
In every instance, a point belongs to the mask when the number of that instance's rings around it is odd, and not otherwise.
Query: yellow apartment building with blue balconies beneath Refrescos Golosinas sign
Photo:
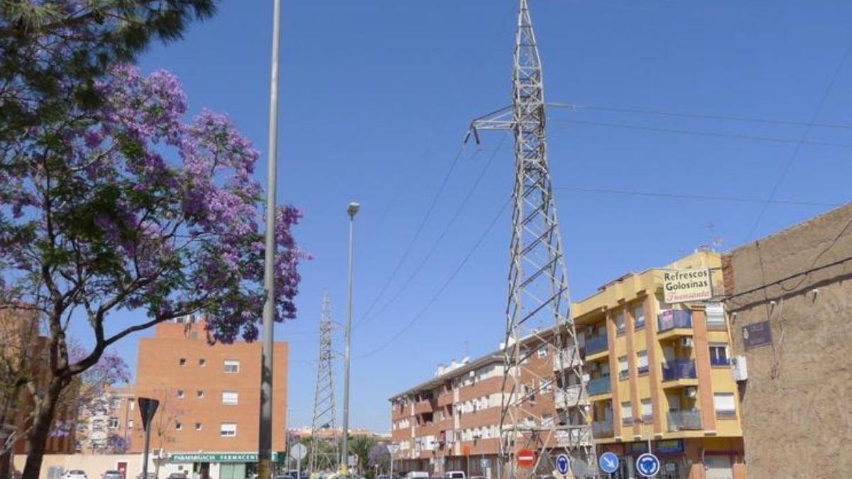
[[[665,303],[672,270],[708,272],[711,298]],[[599,453],[621,458],[613,477],[636,477],[649,444],[662,479],[746,477],[728,320],[714,301],[722,292],[721,257],[699,251],[575,303],[592,433]]]

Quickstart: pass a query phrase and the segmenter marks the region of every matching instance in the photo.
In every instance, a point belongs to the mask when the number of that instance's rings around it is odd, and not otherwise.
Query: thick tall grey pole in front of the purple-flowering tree
[[[275,319],[275,186],[278,181],[278,56],[281,0],[273,0],[272,72],[269,78],[269,161],[267,170],[266,257],[263,271],[263,344],[261,353],[261,414],[258,476],[272,478],[272,381]]]

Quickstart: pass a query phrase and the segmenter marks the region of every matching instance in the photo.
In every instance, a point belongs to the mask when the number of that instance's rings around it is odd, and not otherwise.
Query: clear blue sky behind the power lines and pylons
[[[568,188],[556,199],[575,298],[714,236],[730,249],[849,199],[852,130],[803,125],[852,124],[852,65],[828,88],[849,46],[849,2],[532,0],[531,8],[546,98],[587,107],[549,112],[554,183]],[[311,420],[324,286],[335,318],[345,320],[346,205],[362,204],[359,322],[423,221],[469,120],[509,103],[515,9],[515,0],[285,0],[279,201],[304,210],[296,235],[315,255],[302,268],[298,319],[276,332],[291,343],[292,424]],[[228,113],[262,161],[271,12],[271,2],[226,1],[184,41],[158,45],[140,62],[148,72],[175,72],[193,114]],[[390,395],[429,378],[439,362],[495,349],[502,337],[508,214],[469,254],[509,195],[511,138],[502,136],[485,136],[480,152],[464,150],[378,299],[382,314],[355,330],[351,424],[389,430]],[[802,138],[809,142],[797,147]],[[265,170],[260,164],[264,184]],[[757,222],[762,203],[678,197],[765,199],[776,184],[776,199],[820,205],[772,204]],[[117,346],[134,368],[140,336]]]

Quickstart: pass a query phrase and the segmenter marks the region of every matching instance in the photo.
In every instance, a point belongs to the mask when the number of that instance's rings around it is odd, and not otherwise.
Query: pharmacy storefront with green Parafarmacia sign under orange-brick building
[[[273,453],[273,462],[285,459]],[[257,453],[170,453],[164,473],[183,473],[190,479],[246,479],[257,472]]]

